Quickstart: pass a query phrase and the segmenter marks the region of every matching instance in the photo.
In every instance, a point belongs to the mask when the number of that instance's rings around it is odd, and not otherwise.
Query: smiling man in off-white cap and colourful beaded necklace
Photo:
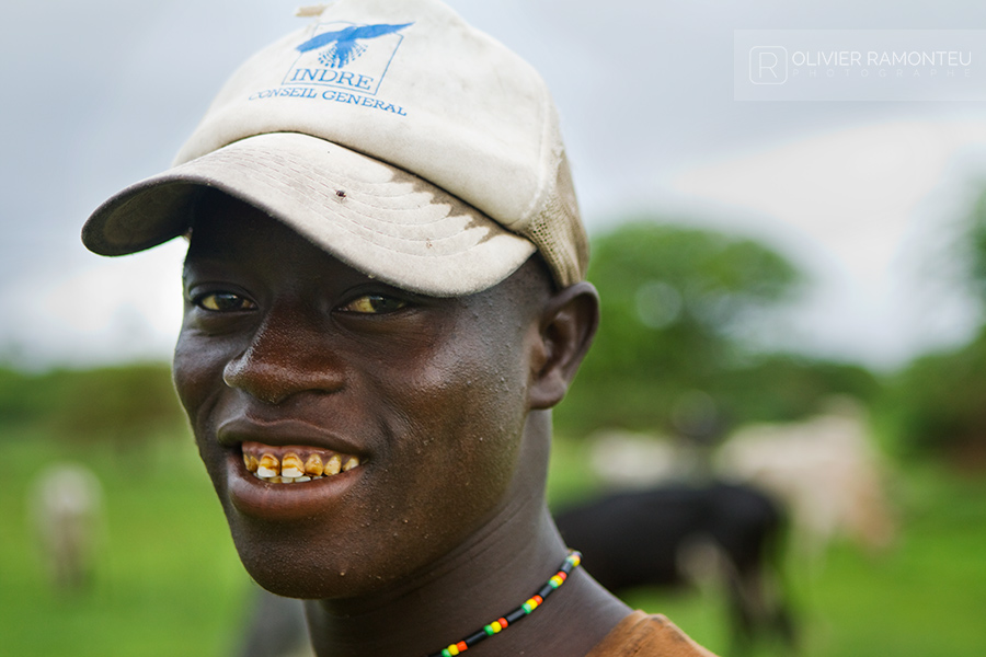
[[[544,504],[598,300],[543,82],[436,0],[308,13],[83,229],[190,238],[174,381],[246,569],[319,655],[708,655]]]

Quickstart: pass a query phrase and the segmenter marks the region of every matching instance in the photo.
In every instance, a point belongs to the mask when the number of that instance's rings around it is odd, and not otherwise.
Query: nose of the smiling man
[[[298,313],[272,311],[237,357],[226,364],[222,380],[267,404],[280,404],[303,392],[337,392],[344,367],[329,347],[331,335]]]

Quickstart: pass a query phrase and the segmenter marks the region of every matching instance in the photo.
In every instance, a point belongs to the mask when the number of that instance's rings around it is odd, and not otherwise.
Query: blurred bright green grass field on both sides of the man
[[[230,654],[253,585],[190,439],[126,454],[32,433],[8,433],[0,446],[8,463],[0,483],[0,654]],[[99,474],[107,518],[93,586],[67,597],[48,586],[26,517],[33,476],[43,463],[62,460]],[[558,445],[552,502],[591,489],[586,471],[582,448]],[[812,577],[790,564],[804,657],[986,655],[986,481],[910,466],[895,492],[903,533],[890,553],[872,557],[837,544]],[[714,589],[643,591],[631,602],[666,613],[725,653]]]

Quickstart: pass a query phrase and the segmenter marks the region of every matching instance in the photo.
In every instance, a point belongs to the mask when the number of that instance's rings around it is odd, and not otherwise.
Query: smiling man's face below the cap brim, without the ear
[[[251,575],[282,595],[347,597],[461,543],[517,468],[531,295],[508,279],[420,297],[239,201],[217,197],[200,217],[174,380]],[[358,465],[274,483],[244,452]]]

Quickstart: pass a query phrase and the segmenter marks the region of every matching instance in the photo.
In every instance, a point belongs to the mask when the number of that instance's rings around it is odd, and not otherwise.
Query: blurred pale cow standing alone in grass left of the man
[[[50,466],[34,482],[28,516],[56,590],[87,587],[102,538],[103,494],[96,475],[78,463]]]

